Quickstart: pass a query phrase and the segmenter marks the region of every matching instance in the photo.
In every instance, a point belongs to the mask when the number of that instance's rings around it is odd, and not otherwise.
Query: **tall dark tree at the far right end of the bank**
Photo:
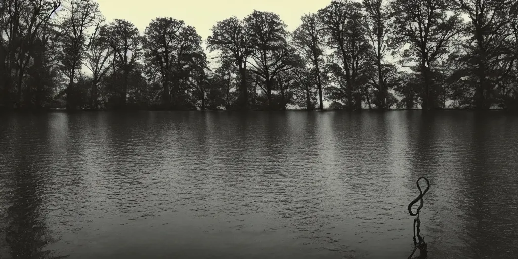
[[[477,82],[474,84],[474,103],[478,109],[488,109],[495,86],[512,70],[512,63],[500,66],[508,54],[506,42],[512,38],[511,22],[518,19],[518,3],[505,0],[455,0],[454,7],[469,17],[468,64]],[[514,10],[514,11],[513,11]],[[512,54],[511,54],[512,56]],[[511,57],[515,58],[515,57]]]

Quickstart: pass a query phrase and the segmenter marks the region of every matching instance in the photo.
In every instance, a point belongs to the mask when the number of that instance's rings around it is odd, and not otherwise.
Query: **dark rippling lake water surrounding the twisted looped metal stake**
[[[518,117],[0,116],[2,258],[518,257]]]

